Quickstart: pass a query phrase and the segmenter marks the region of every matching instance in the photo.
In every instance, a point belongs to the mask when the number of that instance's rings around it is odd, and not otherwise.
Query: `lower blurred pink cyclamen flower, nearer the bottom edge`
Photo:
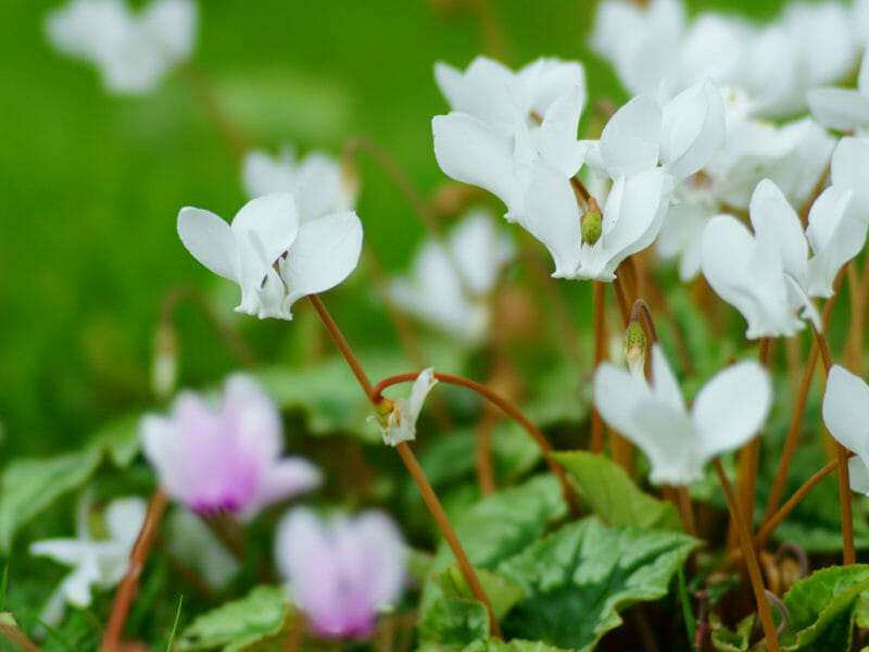
[[[276,557],[299,607],[326,638],[367,636],[404,584],[404,543],[383,513],[322,523],[297,507],[278,526]]]

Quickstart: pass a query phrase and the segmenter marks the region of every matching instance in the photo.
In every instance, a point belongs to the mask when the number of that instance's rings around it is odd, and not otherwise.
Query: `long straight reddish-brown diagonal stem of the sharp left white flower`
[[[324,326],[326,326],[326,330],[332,338],[335,346],[338,347],[338,350],[344,356],[344,360],[353,372],[353,375],[356,377],[356,380],[365,392],[366,398],[370,401],[371,405],[376,408],[380,400],[380,392],[383,389],[381,387],[382,383],[378,384],[378,389],[375,389],[371,386],[371,381],[368,379],[368,376],[362,368],[360,361],[356,359],[356,355],[353,353],[350,344],[348,344],[347,339],[344,339],[340,328],[338,328],[338,324],[335,323],[335,319],[332,319],[329,311],[326,310],[325,305],[323,305],[319,297],[316,294],[308,294],[307,298],[311,301],[311,304],[314,306],[314,310],[317,311],[317,315],[319,315]],[[416,378],[417,375],[418,374],[413,374],[413,377]],[[450,549],[453,551],[453,555],[455,556],[456,562],[458,562],[462,575],[465,577],[465,581],[468,584],[468,587],[474,594],[474,599],[479,600],[486,605],[486,610],[489,612],[492,632],[501,638],[501,628],[498,624],[498,619],[494,617],[494,612],[492,611],[492,605],[489,603],[489,598],[487,598],[486,592],[482,590],[480,580],[477,578],[477,574],[474,572],[474,567],[470,565],[470,562],[468,562],[468,557],[462,548],[462,543],[459,542],[458,537],[456,537],[455,530],[453,529],[450,519],[446,517],[446,513],[443,511],[443,507],[438,500],[438,496],[434,493],[434,490],[431,488],[428,478],[426,478],[425,473],[423,473],[423,468],[416,461],[416,456],[413,454],[413,451],[406,442],[400,443],[395,447],[395,449],[399,451],[401,459],[404,461],[404,465],[407,467],[407,471],[414,478],[414,481],[419,488],[420,493],[423,493],[423,499],[425,500],[426,506],[429,509],[431,516],[434,518],[434,523],[438,525],[443,538],[446,540]],[[108,650],[106,652],[114,651]]]

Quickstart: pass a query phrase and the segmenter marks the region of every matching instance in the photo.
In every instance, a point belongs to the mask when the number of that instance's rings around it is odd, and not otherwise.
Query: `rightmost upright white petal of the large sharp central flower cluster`
[[[725,108],[711,83],[695,84],[664,106],[660,160],[676,184],[705,166],[723,141]]]

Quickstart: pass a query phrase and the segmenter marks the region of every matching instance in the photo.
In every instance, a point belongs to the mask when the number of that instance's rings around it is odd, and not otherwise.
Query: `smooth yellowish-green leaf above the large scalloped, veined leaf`
[[[606,525],[682,531],[676,507],[640,491],[628,474],[604,455],[553,453],[576,480],[580,498]]]

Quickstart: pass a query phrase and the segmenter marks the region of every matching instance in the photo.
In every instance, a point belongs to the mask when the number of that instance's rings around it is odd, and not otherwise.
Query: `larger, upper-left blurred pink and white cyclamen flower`
[[[311,462],[280,457],[280,414],[248,376],[229,378],[216,409],[181,392],[169,416],[144,416],[141,438],[166,493],[199,514],[250,517],[320,482]]]

